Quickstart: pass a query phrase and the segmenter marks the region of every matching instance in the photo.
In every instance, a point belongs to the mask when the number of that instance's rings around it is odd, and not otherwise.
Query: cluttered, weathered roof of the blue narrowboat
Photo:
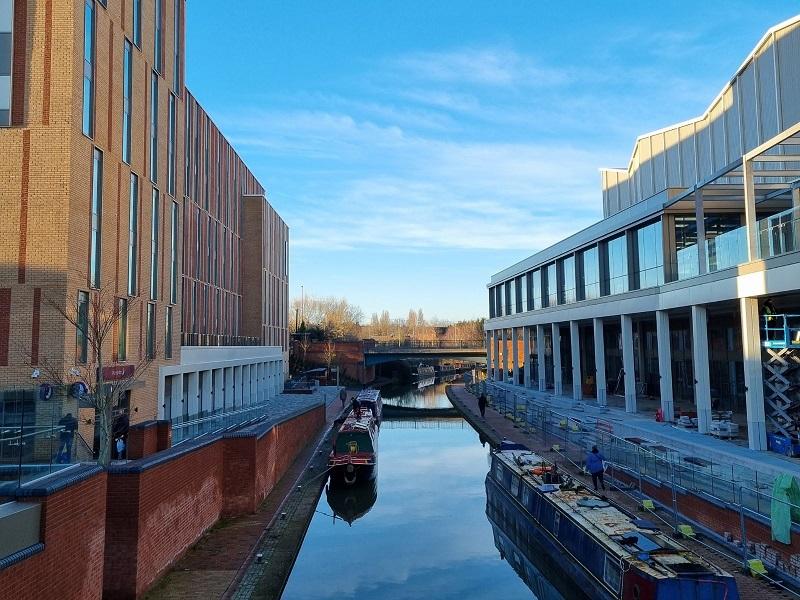
[[[496,455],[510,469],[519,473],[528,485],[543,492],[543,497],[573,519],[609,552],[636,564],[649,575],[667,578],[697,566],[702,566],[715,575],[728,575],[661,531],[643,526],[641,522],[637,524],[638,519],[590,490],[562,490],[558,486],[545,484],[540,476],[532,473],[532,468],[552,466],[552,463],[535,452],[517,448],[499,450]],[[681,565],[687,566],[682,569]]]

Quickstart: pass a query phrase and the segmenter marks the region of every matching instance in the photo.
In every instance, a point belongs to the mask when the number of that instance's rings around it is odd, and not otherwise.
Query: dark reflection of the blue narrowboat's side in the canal
[[[491,477],[486,478],[486,516],[492,525],[494,545],[500,551],[500,558],[508,561],[538,600],[587,597],[531,535],[530,530],[537,526],[536,523],[500,490]]]

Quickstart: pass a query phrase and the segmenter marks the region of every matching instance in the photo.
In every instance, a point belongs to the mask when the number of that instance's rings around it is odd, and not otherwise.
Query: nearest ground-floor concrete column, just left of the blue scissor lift
[[[758,299],[740,298],[744,397],[747,407],[747,441],[751,450],[767,449],[767,419],[764,413],[764,379]]]

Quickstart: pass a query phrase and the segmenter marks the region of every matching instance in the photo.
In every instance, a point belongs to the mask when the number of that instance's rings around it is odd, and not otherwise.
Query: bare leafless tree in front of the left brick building
[[[69,357],[59,361],[40,357],[37,366],[55,385],[70,389],[94,408],[100,438],[98,463],[103,466],[111,461],[112,409],[142,377],[158,351],[153,339],[138,364],[115,364],[116,350],[111,347],[114,334],[123,319],[142,303],[137,297],[124,298],[126,305],[120,300],[107,288],[88,292],[85,301],[75,305],[65,296],[44,296],[45,304],[75,327],[77,343],[74,361]]]

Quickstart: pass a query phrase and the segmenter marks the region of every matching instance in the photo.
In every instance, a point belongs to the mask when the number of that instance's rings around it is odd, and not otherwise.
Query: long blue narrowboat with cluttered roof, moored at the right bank
[[[495,486],[589,598],[738,600],[733,576],[518,444],[492,452]]]

